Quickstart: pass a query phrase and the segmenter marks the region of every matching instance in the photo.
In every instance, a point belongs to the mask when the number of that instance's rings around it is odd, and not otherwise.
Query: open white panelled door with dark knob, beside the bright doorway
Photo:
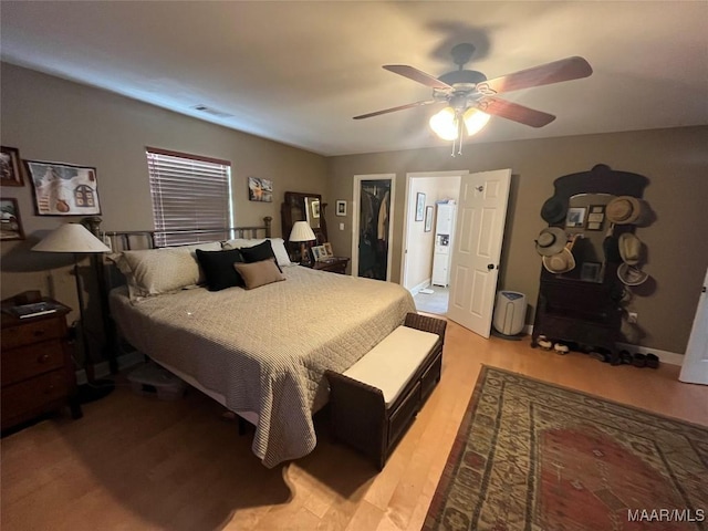
[[[511,169],[464,175],[450,264],[447,316],[489,337]]]

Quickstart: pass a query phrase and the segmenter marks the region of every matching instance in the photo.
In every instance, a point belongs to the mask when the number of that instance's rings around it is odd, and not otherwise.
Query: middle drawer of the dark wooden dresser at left
[[[64,348],[60,340],[2,351],[2,385],[21,382],[64,366]]]

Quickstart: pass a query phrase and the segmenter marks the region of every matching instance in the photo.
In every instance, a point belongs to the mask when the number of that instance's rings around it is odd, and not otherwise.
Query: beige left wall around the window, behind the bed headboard
[[[326,195],[326,160],[320,155],[7,63],[0,66],[2,145],[19,148],[25,159],[96,167],[105,230],[154,227],[146,146],[230,160],[237,226],[262,225],[271,216],[274,236],[280,236],[285,191]],[[273,180],[273,202],[248,200],[249,176]],[[30,248],[60,223],[80,218],[34,216],[29,181],[1,191],[3,198],[18,199],[27,235],[24,241],[0,244],[2,298],[24,290],[48,294],[51,272],[56,298],[76,309],[67,268],[72,258]]]

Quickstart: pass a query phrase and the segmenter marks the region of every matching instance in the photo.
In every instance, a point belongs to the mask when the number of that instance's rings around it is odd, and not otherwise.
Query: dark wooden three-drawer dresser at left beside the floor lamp
[[[20,319],[7,313],[2,302],[2,429],[44,413],[69,406],[73,418],[82,416],[76,377],[67,344],[70,309],[44,298],[56,308],[45,315]]]

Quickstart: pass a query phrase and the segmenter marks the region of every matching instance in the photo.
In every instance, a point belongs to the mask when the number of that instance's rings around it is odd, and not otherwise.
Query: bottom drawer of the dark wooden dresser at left
[[[64,369],[42,374],[19,384],[2,387],[2,425],[19,417],[29,417],[56,409],[55,400],[69,394]]]

